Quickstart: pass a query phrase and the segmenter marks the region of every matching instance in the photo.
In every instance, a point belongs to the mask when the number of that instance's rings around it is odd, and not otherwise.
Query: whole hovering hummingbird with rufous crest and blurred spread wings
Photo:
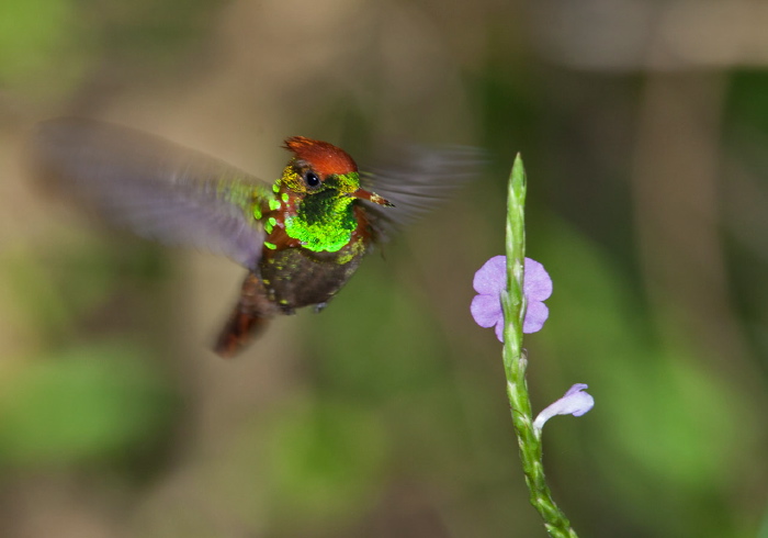
[[[225,255],[248,270],[214,350],[240,351],[268,321],[323,310],[371,247],[450,195],[475,149],[400,148],[363,175],[343,149],[293,136],[272,186],[223,161],[127,127],[59,119],[38,125],[35,172],[140,236]],[[373,186],[375,192],[369,190]]]

